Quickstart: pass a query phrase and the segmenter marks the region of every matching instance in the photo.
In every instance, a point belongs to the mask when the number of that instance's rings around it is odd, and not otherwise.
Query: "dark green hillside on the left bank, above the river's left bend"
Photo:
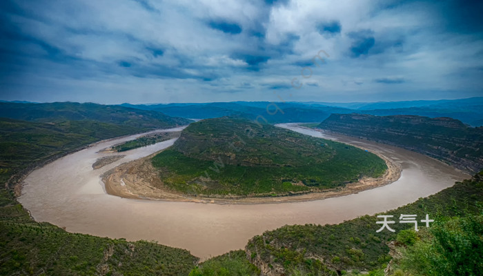
[[[0,119],[0,176],[14,175],[101,139],[143,130],[97,121],[46,124]]]

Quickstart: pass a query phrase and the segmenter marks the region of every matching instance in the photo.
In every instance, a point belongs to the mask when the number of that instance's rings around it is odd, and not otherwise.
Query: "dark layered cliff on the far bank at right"
[[[420,152],[467,172],[483,168],[483,128],[448,117],[333,114],[318,127]]]

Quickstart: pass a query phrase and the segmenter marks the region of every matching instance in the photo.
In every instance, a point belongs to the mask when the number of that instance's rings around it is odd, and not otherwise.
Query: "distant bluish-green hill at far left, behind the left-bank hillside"
[[[161,112],[97,103],[11,103],[0,102],[0,117],[24,121],[99,121],[137,128],[170,128],[189,124],[189,119]]]

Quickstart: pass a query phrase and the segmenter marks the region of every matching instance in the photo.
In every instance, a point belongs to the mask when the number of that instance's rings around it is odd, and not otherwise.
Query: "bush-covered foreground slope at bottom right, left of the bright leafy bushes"
[[[430,219],[440,221],[446,217],[480,214],[482,199],[483,172],[480,172],[473,179],[440,193],[377,215],[394,215],[392,220],[395,221],[401,214],[417,215],[419,221],[428,214]],[[381,221],[377,215],[366,215],[336,225],[284,226],[253,237],[246,246],[246,253],[250,262],[264,268],[264,273],[273,275],[283,275],[290,270],[317,275],[317,271],[326,269],[374,270],[386,267],[391,259],[386,243],[396,239],[401,230],[414,228],[414,225],[391,224],[395,233],[388,230],[376,233],[381,226],[376,224]],[[421,223],[419,227],[424,228]]]

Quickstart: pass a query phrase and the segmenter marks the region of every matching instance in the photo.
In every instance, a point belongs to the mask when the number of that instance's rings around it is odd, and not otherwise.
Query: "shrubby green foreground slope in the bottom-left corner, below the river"
[[[196,262],[187,250],[37,223],[0,189],[0,275],[188,275]]]

